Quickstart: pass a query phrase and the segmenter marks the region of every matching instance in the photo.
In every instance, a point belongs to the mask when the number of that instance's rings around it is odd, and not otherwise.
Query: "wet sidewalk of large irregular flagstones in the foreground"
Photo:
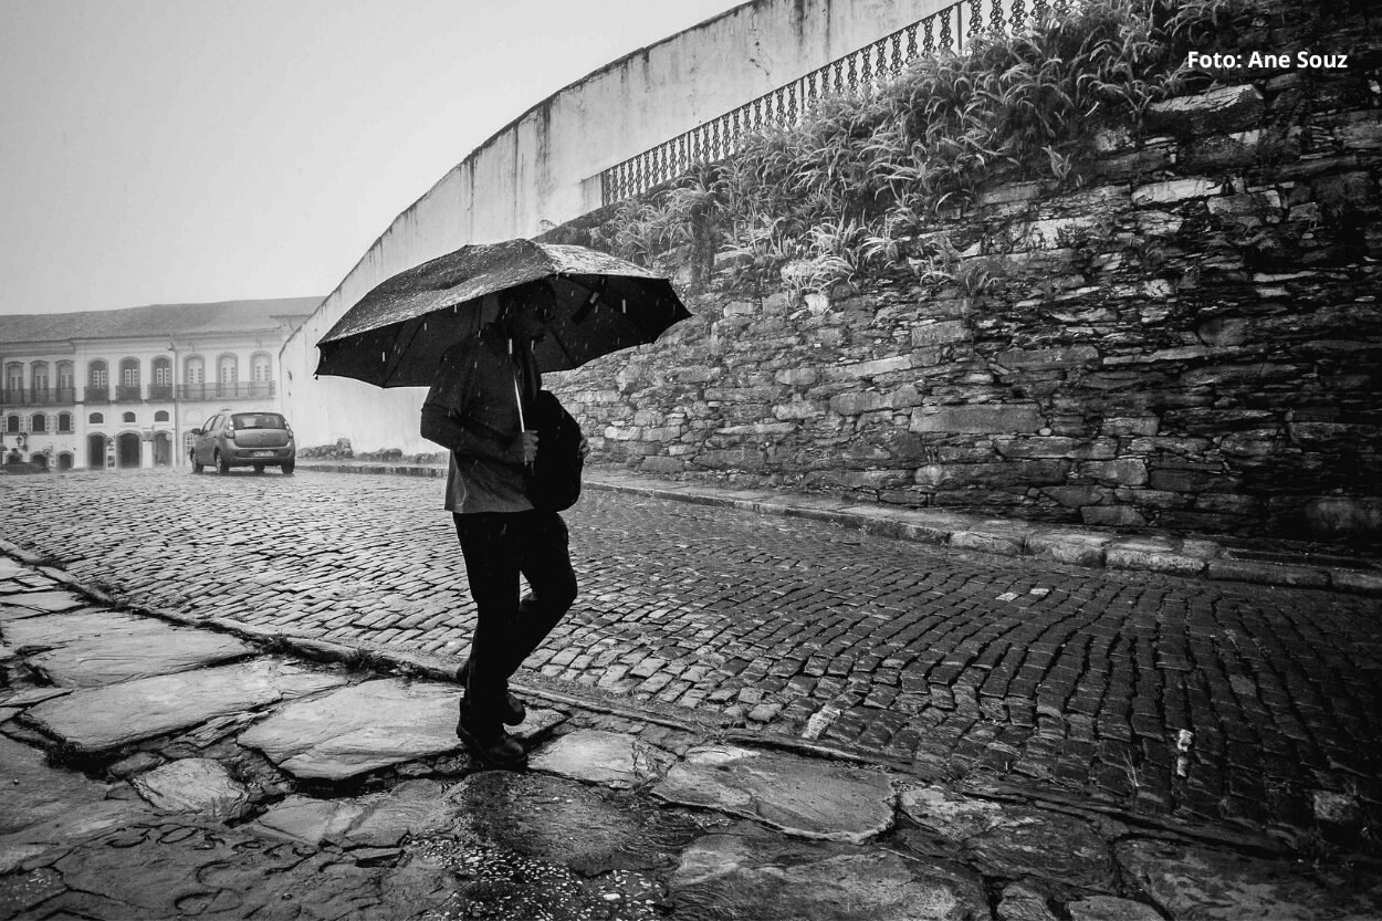
[[[0,549],[0,918],[1382,917],[1376,863],[1323,844],[589,689],[524,689],[528,769],[481,770],[451,682],[122,610]]]

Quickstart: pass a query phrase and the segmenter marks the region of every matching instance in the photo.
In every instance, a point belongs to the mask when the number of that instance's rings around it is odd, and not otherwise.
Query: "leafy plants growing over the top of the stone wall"
[[[1255,0],[1086,0],[963,55],[923,57],[871,93],[822,101],[799,126],[741,140],[726,160],[616,206],[586,242],[641,264],[685,259],[709,278],[731,256],[739,283],[826,290],[905,259],[959,278],[930,218],[962,210],[988,180],[1078,185],[1101,126],[1140,127],[1147,106],[1209,75],[1186,65],[1251,25]]]

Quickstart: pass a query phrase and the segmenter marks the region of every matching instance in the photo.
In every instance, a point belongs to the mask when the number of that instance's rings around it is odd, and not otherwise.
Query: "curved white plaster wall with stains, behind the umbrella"
[[[600,171],[948,6],[944,0],[755,0],[560,90],[518,116],[399,214],[279,355],[304,447],[431,452],[424,390],[314,379],[315,343],[366,292],[470,242],[535,236],[600,206]]]

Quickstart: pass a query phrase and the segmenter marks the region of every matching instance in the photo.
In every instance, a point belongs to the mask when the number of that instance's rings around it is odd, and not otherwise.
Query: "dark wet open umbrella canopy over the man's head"
[[[691,315],[670,281],[608,253],[528,239],[475,243],[365,295],[316,343],[316,373],[426,387],[442,354],[478,335],[482,299],[525,286],[546,289],[553,307],[546,335],[533,344],[542,371],[654,342]]]

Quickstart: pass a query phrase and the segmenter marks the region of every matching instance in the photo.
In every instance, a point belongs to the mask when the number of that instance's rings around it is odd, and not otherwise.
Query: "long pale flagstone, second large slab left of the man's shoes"
[[[30,707],[25,718],[91,755],[343,683],[282,660],[254,660],[76,690]]]

